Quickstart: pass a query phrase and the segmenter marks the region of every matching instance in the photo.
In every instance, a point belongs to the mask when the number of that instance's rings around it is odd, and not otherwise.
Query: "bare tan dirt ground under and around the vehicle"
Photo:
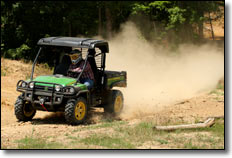
[[[65,143],[65,135],[72,133],[74,130],[82,127],[95,126],[102,123],[105,119],[103,110],[92,110],[87,123],[80,126],[69,126],[66,124],[62,113],[47,113],[38,111],[31,122],[17,122],[14,116],[14,102],[19,95],[16,92],[16,83],[19,79],[24,79],[25,76],[18,75],[18,71],[26,68],[28,65],[18,61],[2,60],[4,67],[15,65],[13,73],[6,72],[5,76],[1,77],[1,144],[7,148],[17,148],[16,140],[25,138],[27,135],[34,133],[40,138],[48,138],[49,141],[58,141]],[[223,91],[222,91],[223,93]],[[163,110],[146,115],[143,117],[131,118],[125,120],[129,124],[134,124],[139,121],[149,120],[155,124],[166,124],[167,122],[195,122],[203,121],[210,116],[224,115],[224,95],[203,94],[183,100],[174,105],[168,105]],[[110,129],[105,130],[91,129],[78,132],[79,137],[86,137],[93,133],[109,133]],[[94,147],[96,148],[96,147]],[[97,147],[98,148],[98,147]],[[155,147],[159,148],[159,147]]]

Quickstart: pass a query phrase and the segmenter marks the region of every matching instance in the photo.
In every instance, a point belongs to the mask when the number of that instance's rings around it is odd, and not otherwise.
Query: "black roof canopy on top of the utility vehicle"
[[[79,47],[79,48],[99,48],[101,51],[109,52],[108,42],[95,40],[91,38],[78,37],[47,37],[41,38],[38,43],[41,46],[64,46],[64,47]]]

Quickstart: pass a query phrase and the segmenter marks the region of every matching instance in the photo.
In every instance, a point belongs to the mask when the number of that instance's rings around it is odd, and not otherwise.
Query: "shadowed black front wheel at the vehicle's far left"
[[[21,96],[15,103],[15,116],[19,121],[30,121],[35,116],[36,110],[31,103],[24,101]]]

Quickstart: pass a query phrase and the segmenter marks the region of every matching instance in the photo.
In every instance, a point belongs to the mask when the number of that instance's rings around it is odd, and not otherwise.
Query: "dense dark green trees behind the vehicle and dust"
[[[32,59],[37,41],[49,36],[111,38],[129,19],[148,40],[193,42],[202,38],[205,14],[220,6],[223,1],[1,1],[1,56]],[[138,17],[150,22],[144,26]]]

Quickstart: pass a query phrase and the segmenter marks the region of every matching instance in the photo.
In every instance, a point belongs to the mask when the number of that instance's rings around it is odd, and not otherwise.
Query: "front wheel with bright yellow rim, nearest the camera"
[[[83,97],[70,99],[65,105],[65,119],[71,125],[83,123],[87,117],[87,101]]]

